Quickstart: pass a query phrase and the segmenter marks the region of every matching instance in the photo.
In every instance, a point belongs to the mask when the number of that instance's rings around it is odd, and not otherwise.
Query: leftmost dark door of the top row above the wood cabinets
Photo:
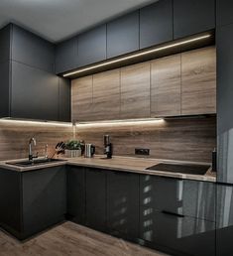
[[[62,41],[56,46],[56,73],[65,72],[77,65],[77,37]]]

